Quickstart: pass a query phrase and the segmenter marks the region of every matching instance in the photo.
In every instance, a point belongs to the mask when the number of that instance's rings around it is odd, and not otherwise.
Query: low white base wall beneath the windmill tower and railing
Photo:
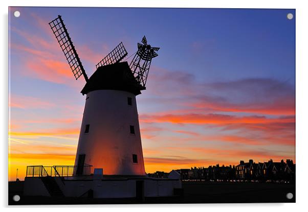
[[[165,179],[127,179],[127,180],[65,180],[56,177],[65,197],[80,197],[93,190],[94,198],[131,198],[136,197],[136,181],[144,180],[145,197],[173,196],[174,188],[181,188],[180,180]],[[50,196],[39,177],[25,179],[24,195]]]

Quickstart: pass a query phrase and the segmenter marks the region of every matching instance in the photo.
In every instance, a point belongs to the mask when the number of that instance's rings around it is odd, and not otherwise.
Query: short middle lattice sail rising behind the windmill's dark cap
[[[123,60],[127,56],[127,51],[122,42],[116,46],[116,48],[111,51],[106,57],[104,57],[99,63],[97,63],[96,68],[103,65],[110,65]]]

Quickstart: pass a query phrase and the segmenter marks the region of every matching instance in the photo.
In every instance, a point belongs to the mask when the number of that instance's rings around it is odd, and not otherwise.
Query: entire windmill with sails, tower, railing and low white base
[[[167,180],[150,178],[145,173],[136,103],[136,96],[146,89],[151,60],[158,56],[159,48],[151,47],[143,37],[128,64],[122,61],[127,51],[121,42],[97,63],[89,78],[61,16],[49,25],[75,79],[81,75],[85,79],[81,90],[86,95],[85,105],[75,166],[53,166],[48,171],[43,166],[27,167],[24,194],[87,194],[94,198],[136,198],[140,202],[145,196],[174,195],[175,189],[182,188],[178,172],[173,171]]]

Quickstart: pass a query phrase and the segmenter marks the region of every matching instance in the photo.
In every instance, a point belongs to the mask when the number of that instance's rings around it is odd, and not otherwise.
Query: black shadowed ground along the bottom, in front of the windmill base
[[[23,186],[23,181],[9,182],[9,205],[295,202],[294,182],[183,182],[182,196],[145,198],[144,202],[138,202],[135,198],[27,197],[23,196]],[[287,193],[293,193],[293,199],[287,199]],[[14,202],[14,195],[19,195],[20,201]]]

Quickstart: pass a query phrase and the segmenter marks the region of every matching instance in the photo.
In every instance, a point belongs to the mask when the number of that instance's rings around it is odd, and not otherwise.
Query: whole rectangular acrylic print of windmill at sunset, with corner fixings
[[[9,204],[295,202],[295,17],[9,7]]]

